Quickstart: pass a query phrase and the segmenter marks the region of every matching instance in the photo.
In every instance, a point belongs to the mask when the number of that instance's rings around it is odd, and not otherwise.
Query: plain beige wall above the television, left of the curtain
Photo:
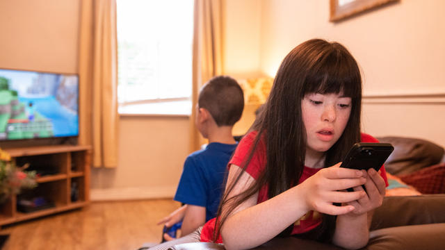
[[[0,1],[0,67],[77,73],[79,1]]]

